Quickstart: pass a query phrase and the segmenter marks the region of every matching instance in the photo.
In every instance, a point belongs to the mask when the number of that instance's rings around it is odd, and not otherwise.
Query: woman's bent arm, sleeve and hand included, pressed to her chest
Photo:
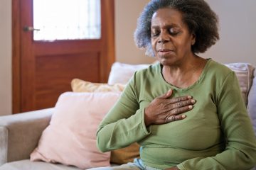
[[[100,123],[97,131],[97,147],[102,152],[127,147],[133,142],[138,142],[150,134],[151,124],[181,120],[185,117],[179,114],[193,108],[195,101],[191,96],[171,98],[172,91],[154,98],[149,106],[139,106],[139,88],[144,83],[144,79],[138,76],[136,81],[136,76],[137,73],[134,74],[122,96]]]

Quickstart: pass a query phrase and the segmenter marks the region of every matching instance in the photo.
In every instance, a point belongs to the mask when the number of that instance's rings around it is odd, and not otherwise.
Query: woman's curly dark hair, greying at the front
[[[146,49],[146,55],[154,56],[151,47],[151,18],[159,8],[174,8],[183,14],[183,22],[190,33],[196,35],[193,53],[206,52],[219,40],[218,16],[203,0],[151,0],[144,7],[137,21],[134,41],[139,48]]]

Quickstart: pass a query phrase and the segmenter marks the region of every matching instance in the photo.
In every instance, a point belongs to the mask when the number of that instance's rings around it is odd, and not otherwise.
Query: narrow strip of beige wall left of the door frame
[[[11,114],[11,1],[0,1],[0,115]]]

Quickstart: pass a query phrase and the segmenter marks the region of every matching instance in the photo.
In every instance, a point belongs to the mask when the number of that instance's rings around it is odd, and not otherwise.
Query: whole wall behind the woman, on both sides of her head
[[[256,66],[255,0],[206,0],[220,19],[220,40],[201,54],[218,62],[249,62]],[[115,44],[118,62],[150,63],[134,45],[137,18],[149,0],[115,1]]]

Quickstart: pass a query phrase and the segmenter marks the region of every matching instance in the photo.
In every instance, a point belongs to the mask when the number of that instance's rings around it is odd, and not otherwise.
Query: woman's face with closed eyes
[[[191,45],[195,39],[186,23],[183,23],[181,12],[173,8],[161,8],[152,16],[151,45],[161,64],[181,64],[193,56]]]

